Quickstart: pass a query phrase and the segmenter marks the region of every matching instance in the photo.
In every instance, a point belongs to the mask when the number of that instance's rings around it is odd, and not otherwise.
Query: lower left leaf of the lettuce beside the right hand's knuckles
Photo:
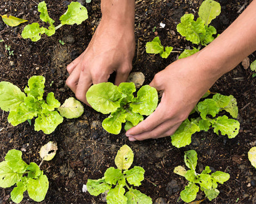
[[[199,132],[199,126],[195,123],[191,123],[188,119],[183,121],[178,130],[171,135],[172,145],[180,148],[185,147],[191,143],[191,135],[195,132]]]

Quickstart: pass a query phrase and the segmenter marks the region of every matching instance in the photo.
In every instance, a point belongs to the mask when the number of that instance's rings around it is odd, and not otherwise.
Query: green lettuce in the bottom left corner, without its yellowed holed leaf
[[[26,164],[19,150],[9,150],[5,160],[0,163],[0,187],[9,188],[17,186],[11,192],[11,199],[19,203],[23,199],[23,193],[27,190],[28,196],[36,202],[44,200],[49,188],[49,181],[40,167],[31,162]]]

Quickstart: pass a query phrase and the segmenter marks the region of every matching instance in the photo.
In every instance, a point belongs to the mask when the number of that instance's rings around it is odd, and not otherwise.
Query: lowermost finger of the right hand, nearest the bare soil
[[[158,125],[157,128],[155,128],[152,131],[143,132],[142,134],[135,135],[129,137],[130,141],[136,141],[136,140],[146,140],[146,139],[156,139],[156,138],[163,138],[166,136],[172,135],[180,126],[180,123],[172,125],[173,120],[166,121],[161,125]]]

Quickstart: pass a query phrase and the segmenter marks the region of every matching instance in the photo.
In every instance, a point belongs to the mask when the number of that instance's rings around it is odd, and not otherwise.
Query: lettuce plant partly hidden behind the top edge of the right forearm
[[[194,20],[193,14],[185,14],[181,17],[181,22],[177,25],[177,31],[186,40],[196,45],[206,46],[214,40],[213,35],[217,33],[216,29],[209,25],[221,12],[221,6],[213,0],[205,0],[199,7],[197,20]],[[194,48],[193,51],[185,49],[179,56],[184,58],[198,52],[200,47]]]

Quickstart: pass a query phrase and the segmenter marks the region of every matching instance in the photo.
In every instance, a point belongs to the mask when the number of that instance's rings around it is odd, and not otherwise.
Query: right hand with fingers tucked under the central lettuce
[[[170,136],[179,128],[219,77],[201,71],[203,64],[194,54],[175,61],[155,75],[149,85],[163,91],[161,103],[146,120],[126,132],[130,141]]]

